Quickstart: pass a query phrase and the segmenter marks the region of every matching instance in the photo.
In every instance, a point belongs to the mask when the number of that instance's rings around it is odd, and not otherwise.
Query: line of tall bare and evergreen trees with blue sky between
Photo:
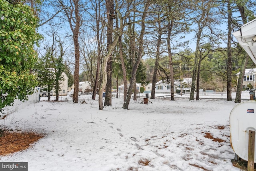
[[[40,19],[36,29],[44,33],[44,42],[52,44],[55,37],[66,49],[63,58],[74,72],[74,103],[78,103],[79,74],[84,71],[94,88],[92,99],[98,92],[99,109],[112,105],[113,77],[124,82],[123,108],[128,109],[136,82],[147,81],[145,58],[153,61],[152,99],[157,76],[170,81],[174,100],[174,80],[190,74],[190,100],[194,100],[194,92],[198,100],[200,84],[215,76],[216,84],[221,82],[227,89],[227,101],[232,101],[232,76],[240,71],[235,100],[240,102],[249,57],[232,32],[254,19],[254,0],[52,0],[22,4],[29,5]],[[188,35],[194,52],[189,49]],[[49,53],[40,52],[40,58]],[[164,57],[167,60],[161,63]]]

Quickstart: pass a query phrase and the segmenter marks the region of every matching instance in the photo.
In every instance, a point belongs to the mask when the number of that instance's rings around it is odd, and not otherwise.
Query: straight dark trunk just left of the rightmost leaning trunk
[[[232,31],[232,11],[228,1],[228,60],[227,60],[227,101],[232,101],[232,61],[231,61],[231,31]]]

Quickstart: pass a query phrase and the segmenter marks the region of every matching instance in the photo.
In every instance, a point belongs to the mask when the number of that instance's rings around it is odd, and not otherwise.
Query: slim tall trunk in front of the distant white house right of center
[[[168,22],[168,35],[167,35],[167,49],[168,49],[168,56],[169,56],[169,69],[170,69],[170,80],[171,80],[171,100],[174,101],[174,72],[173,72],[173,65],[172,65],[172,49],[171,49],[171,34],[172,34],[173,22]],[[181,92],[181,87],[180,87]]]

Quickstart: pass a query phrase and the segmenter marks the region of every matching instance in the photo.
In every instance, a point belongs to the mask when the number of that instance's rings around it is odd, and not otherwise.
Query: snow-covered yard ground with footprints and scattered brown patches
[[[86,103],[63,96],[66,101],[40,101],[0,120],[0,125],[45,134],[0,161],[28,162],[28,171],[240,170],[231,162],[233,101],[159,97],[142,104],[138,98],[126,110],[123,99],[113,97],[112,106],[101,111],[91,95],[79,98]]]

